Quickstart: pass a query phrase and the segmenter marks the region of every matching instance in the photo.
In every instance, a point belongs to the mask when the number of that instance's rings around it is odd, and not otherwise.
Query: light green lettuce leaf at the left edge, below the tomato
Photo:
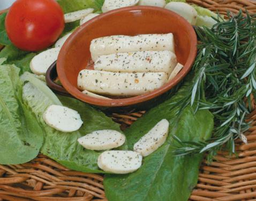
[[[22,102],[19,69],[0,66],[0,164],[21,164],[37,156],[43,131]]]

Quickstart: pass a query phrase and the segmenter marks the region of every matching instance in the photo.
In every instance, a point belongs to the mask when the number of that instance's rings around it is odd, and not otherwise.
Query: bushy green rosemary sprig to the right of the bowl
[[[236,139],[247,142],[243,133],[250,126],[245,116],[251,111],[250,95],[256,89],[256,21],[255,16],[244,17],[239,12],[229,14],[226,21],[218,20],[212,29],[195,30],[200,41],[198,57],[193,66],[193,85],[182,109],[189,104],[195,111],[209,109],[214,115],[213,138],[194,143],[174,136],[178,142],[175,152],[186,155],[208,151],[211,160],[224,144],[234,153]]]

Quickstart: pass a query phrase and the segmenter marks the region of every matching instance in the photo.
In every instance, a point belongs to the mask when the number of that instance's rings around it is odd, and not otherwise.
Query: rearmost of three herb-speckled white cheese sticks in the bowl
[[[172,34],[144,34],[137,36],[106,36],[93,39],[90,46],[92,59],[100,55],[137,51],[174,51]]]

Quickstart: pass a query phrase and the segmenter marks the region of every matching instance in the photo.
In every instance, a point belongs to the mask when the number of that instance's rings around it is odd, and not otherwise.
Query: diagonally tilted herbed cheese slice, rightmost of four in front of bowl
[[[133,150],[139,152],[144,157],[148,156],[162,146],[167,139],[168,132],[169,122],[166,119],[162,119],[134,144]]]

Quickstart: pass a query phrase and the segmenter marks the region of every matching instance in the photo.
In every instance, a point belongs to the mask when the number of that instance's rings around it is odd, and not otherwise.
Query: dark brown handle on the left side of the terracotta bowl
[[[48,68],[46,72],[46,83],[49,88],[59,95],[65,95],[66,97],[74,98],[69,92],[65,90],[65,88],[59,84],[56,84],[54,80],[58,77],[57,68],[56,68],[57,61],[53,62],[52,65]]]

